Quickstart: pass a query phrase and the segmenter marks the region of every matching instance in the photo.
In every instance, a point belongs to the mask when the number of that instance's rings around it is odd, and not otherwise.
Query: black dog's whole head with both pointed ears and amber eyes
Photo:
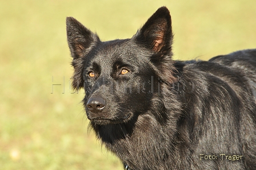
[[[102,42],[68,17],[73,88],[84,88],[83,104],[95,124],[125,123],[154,106],[163,84],[175,80],[171,60],[171,17],[159,8],[131,39]],[[154,100],[153,100],[154,99]],[[159,103],[158,103],[159,107]]]

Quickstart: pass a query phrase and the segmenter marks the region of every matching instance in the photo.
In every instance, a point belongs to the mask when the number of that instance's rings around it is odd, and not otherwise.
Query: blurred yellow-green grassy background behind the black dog
[[[132,37],[161,6],[174,59],[256,47],[255,0],[0,1],[0,169],[122,169],[87,131],[83,92],[70,90],[65,19],[108,41]]]

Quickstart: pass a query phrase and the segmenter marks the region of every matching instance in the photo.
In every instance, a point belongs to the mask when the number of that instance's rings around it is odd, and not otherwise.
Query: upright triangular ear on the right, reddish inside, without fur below
[[[150,50],[161,53],[171,51],[173,34],[171,32],[171,16],[166,7],[159,8],[138,30],[134,38],[138,43],[147,46]]]

